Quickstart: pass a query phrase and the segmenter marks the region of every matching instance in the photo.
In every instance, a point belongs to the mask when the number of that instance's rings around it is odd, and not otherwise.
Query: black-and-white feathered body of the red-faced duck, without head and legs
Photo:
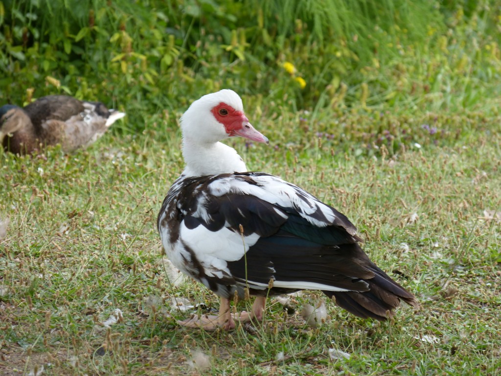
[[[315,289],[377,319],[400,300],[417,304],[369,260],[343,214],[263,172],[181,177],[158,229],[171,261],[223,297],[245,287],[256,295]]]

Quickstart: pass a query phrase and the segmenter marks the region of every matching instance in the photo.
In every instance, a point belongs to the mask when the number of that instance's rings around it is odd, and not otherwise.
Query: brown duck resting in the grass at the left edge
[[[96,141],[123,116],[125,113],[108,110],[100,102],[50,95],[24,108],[0,107],[0,140],[4,150],[16,154],[57,144],[72,152]]]

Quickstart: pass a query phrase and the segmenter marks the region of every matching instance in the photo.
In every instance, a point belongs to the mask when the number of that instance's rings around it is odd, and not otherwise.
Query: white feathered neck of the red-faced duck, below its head
[[[186,177],[247,171],[236,150],[221,142],[200,142],[183,137],[182,150],[186,162],[183,175]]]

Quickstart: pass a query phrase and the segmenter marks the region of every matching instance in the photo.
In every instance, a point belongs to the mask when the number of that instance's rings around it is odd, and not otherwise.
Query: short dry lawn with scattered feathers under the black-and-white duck
[[[174,286],[161,262],[156,215],[183,163],[179,114],[154,115],[142,134],[108,133],[70,156],[0,157],[4,375],[42,365],[48,375],[501,374],[501,223],[486,218],[501,210],[499,119],[272,112],[253,100],[247,115],[271,146],[229,143],[252,169],[347,214],[422,309],[379,323],[328,303],[327,321],[311,328],[300,307],[323,298],[305,292],[287,308],[271,299],[262,326],[176,325],[189,313],[173,297],[201,312],[218,302],[192,281]],[[116,309],[118,322],[104,326]],[[331,359],[331,348],[350,359]]]

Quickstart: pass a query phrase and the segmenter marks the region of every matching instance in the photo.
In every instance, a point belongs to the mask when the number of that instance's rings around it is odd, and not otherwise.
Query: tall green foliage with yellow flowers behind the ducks
[[[99,99],[125,109],[134,130],[220,88],[256,108],[497,114],[500,9],[486,0],[2,0],[0,100]]]

